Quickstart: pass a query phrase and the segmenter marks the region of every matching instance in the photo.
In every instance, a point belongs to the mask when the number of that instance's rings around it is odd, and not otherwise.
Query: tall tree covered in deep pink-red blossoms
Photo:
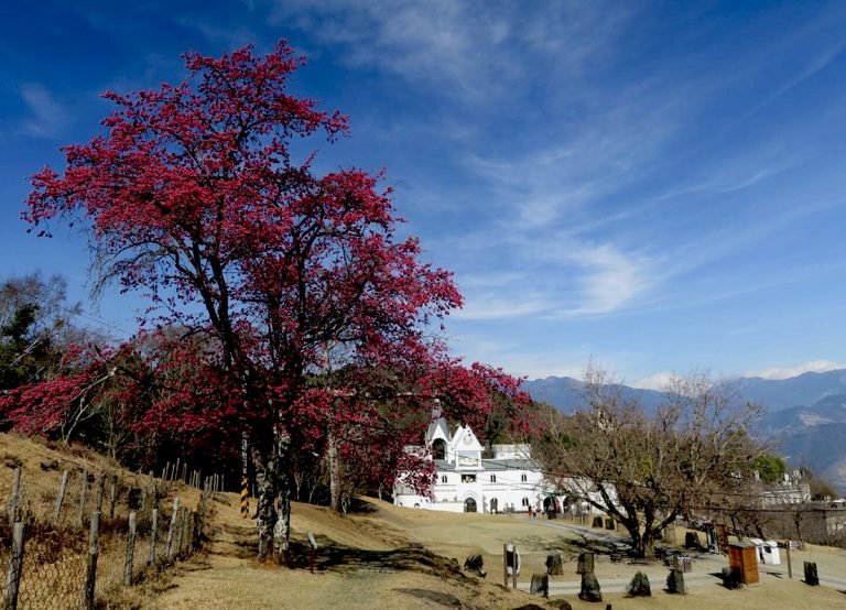
[[[64,174],[34,176],[24,216],[45,235],[54,218],[78,222],[101,280],[158,306],[148,322],[214,344],[204,382],[227,393],[215,417],[249,428],[259,553],[272,542],[281,558],[292,447],[329,433],[350,456],[373,431],[387,438],[393,426],[403,432],[392,438],[404,440],[425,420],[409,413],[427,409],[426,396],[448,394],[454,416],[471,420],[495,394],[517,396],[517,384],[481,367],[458,373],[446,358],[431,323],[460,306],[460,295],[449,273],[420,261],[416,239],[398,240],[401,220],[380,176],[315,175],[312,157],[294,159],[293,139],[333,140],[348,129],[344,116],[288,92],[301,57],[281,42],[265,56],[248,46],[220,58],[189,53],[185,63],[178,85],[107,92],[118,108],[105,132],[63,149]],[[318,392],[310,380],[321,375],[326,345],[348,374]],[[145,422],[207,423],[197,395],[162,399]],[[406,459],[397,443],[383,447],[394,459],[372,459],[381,449],[370,443],[369,461]]]

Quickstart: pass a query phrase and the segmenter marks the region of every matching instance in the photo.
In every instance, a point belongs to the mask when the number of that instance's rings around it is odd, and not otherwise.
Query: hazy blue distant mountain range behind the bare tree
[[[744,400],[763,405],[761,435],[771,440],[792,466],[807,466],[846,493],[846,370],[804,373],[782,380],[758,377],[728,382]],[[584,383],[570,377],[527,381],[523,389],[535,401],[565,413],[585,406]],[[663,399],[657,390],[621,385],[648,412]]]

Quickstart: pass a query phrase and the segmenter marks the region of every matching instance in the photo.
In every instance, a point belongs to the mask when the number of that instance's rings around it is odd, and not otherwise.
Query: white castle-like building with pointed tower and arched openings
[[[402,484],[393,488],[393,503],[452,512],[506,512],[544,509],[552,501],[541,468],[531,457],[529,445],[494,445],[492,456],[484,458],[479,439],[469,427],[458,426],[451,434],[446,420],[429,426],[425,447],[406,447],[425,453],[435,462],[435,484],[431,495],[420,495]]]

